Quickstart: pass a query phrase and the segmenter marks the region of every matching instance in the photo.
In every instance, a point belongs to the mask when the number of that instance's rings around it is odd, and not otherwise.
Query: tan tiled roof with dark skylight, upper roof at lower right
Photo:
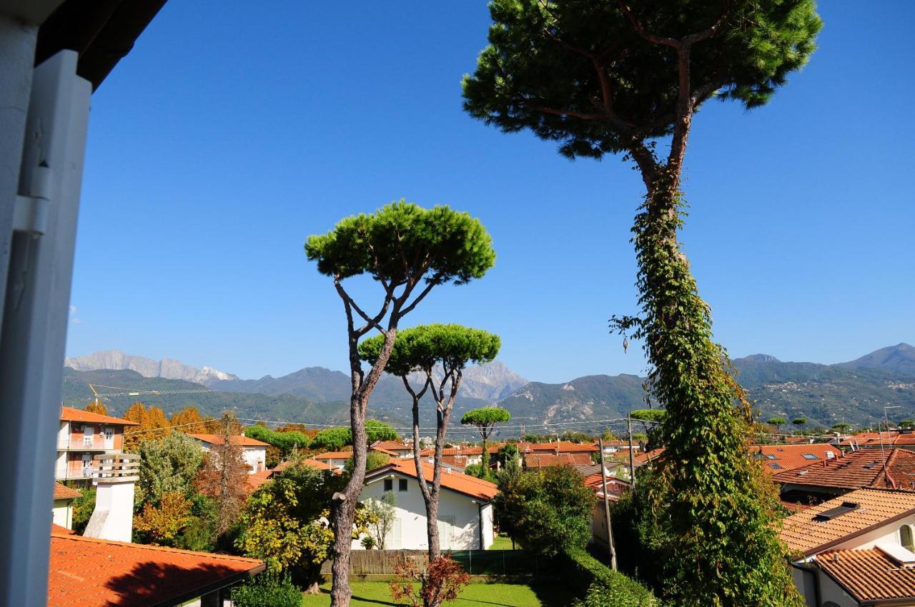
[[[830,520],[815,520],[818,514],[845,502],[860,507]],[[788,516],[782,521],[780,535],[790,550],[809,556],[912,513],[915,513],[915,492],[858,489]]]

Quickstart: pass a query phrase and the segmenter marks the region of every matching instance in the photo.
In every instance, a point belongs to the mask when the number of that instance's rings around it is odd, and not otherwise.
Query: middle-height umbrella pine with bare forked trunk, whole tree
[[[355,462],[349,483],[334,501],[332,517],[336,528],[349,529],[365,478],[369,397],[391,355],[401,319],[436,286],[483,276],[495,262],[495,252],[478,219],[445,206],[421,208],[404,201],[340,220],[327,234],[309,237],[305,252],[317,262],[318,272],[333,280],[346,314]],[[363,308],[344,287],[343,282],[361,275],[382,287],[382,301],[375,309]],[[357,348],[362,337],[375,331],[384,336],[384,344],[366,371]],[[333,555],[330,602],[345,607],[351,596],[348,534],[338,534]]]

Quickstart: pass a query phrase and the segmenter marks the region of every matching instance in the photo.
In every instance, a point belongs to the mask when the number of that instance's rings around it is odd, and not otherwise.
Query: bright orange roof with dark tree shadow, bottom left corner
[[[48,607],[180,604],[262,570],[256,559],[52,532]]]

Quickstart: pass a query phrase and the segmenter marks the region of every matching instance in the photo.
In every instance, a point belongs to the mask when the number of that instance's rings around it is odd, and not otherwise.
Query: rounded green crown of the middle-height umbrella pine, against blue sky
[[[327,234],[308,237],[305,252],[327,276],[367,273],[393,287],[425,272],[431,272],[427,282],[433,284],[464,284],[482,277],[496,259],[479,219],[404,200],[341,219]]]

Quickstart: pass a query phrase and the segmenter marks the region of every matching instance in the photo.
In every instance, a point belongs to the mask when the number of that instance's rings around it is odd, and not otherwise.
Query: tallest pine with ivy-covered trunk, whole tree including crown
[[[643,340],[650,398],[668,411],[650,499],[673,538],[670,600],[799,604],[772,527],[775,496],[748,457],[748,403],[678,230],[694,112],[769,101],[813,52],[813,0],[492,0],[490,15],[465,109],[557,142],[567,158],[621,154],[646,189],[632,229],[640,314],[611,326]]]

